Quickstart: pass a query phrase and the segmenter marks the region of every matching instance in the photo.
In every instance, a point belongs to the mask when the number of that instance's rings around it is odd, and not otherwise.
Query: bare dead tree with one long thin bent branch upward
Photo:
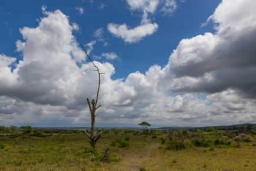
[[[86,52],[86,50],[84,49],[82,44],[81,44],[81,47]],[[88,106],[89,106],[89,109],[90,109],[90,112],[91,112],[91,135],[88,134],[87,131],[85,130],[87,137],[90,139],[89,143],[91,144],[91,147],[95,147],[97,140],[100,139],[100,136],[103,133],[103,131],[101,131],[100,133],[97,134],[97,131],[95,131],[95,128],[94,128],[95,117],[97,116],[97,115],[95,115],[95,113],[96,113],[97,108],[99,108],[101,106],[100,105],[100,106],[97,107],[97,102],[98,102],[99,91],[100,91],[100,74],[103,74],[103,73],[100,73],[99,68],[93,63],[93,61],[91,60],[91,58],[89,57],[87,52],[86,52],[86,55],[89,58],[89,60],[91,61],[91,63],[94,65],[94,67],[96,68],[96,71],[99,74],[99,85],[98,85],[96,101],[93,99],[93,100],[91,100],[91,103],[90,103],[89,98],[87,98],[87,103],[88,103]]]

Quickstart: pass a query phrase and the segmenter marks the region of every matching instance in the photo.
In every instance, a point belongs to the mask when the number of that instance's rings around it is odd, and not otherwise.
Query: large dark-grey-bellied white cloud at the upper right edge
[[[210,19],[216,33],[180,41],[166,69],[174,92],[216,93],[232,88],[256,97],[256,3],[224,0]],[[209,19],[208,19],[209,20]]]

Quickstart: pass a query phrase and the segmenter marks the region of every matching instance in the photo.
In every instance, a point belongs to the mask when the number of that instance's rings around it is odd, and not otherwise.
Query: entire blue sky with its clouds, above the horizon
[[[256,123],[254,0],[0,1],[0,125]]]

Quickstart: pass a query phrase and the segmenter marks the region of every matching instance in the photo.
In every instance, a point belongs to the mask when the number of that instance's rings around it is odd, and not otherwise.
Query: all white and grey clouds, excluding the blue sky
[[[110,23],[107,29],[130,44],[157,32],[159,25],[150,19],[156,10],[168,15],[178,8],[174,0],[127,0],[127,4],[131,11],[141,12],[140,25]],[[165,67],[152,65],[145,74],[137,71],[113,80],[115,68],[107,60],[119,56],[102,53],[98,58],[106,61],[95,61],[106,73],[101,76],[97,123],[255,123],[255,9],[253,0],[223,0],[203,24],[214,22],[214,34],[181,40]],[[0,123],[83,126],[90,123],[86,98],[96,96],[97,73],[74,36],[78,24],[60,10],[48,12],[43,6],[42,12],[36,28],[20,29],[23,40],[16,46],[23,60],[15,63],[16,58],[0,54]],[[103,29],[94,32],[97,38],[102,35]],[[88,52],[95,43],[86,45]]]

